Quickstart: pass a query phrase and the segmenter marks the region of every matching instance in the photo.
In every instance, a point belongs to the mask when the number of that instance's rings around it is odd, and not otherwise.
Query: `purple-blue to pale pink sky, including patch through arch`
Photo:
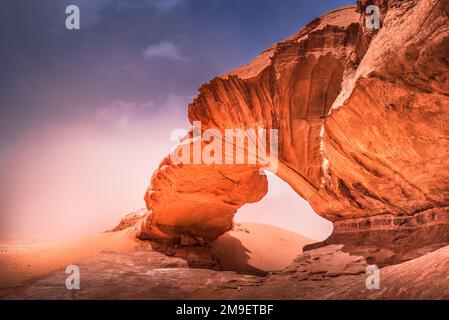
[[[144,207],[202,83],[351,3],[0,1],[0,238],[91,235]],[[70,4],[79,30],[65,27]],[[273,176],[237,220],[315,239],[331,230]]]

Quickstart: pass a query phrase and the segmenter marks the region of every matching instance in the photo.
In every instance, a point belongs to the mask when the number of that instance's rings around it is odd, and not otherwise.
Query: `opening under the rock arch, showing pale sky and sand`
[[[305,245],[325,240],[333,224],[273,173],[267,173],[268,193],[241,207],[234,227],[212,245],[224,270],[259,274],[280,271],[302,253]]]

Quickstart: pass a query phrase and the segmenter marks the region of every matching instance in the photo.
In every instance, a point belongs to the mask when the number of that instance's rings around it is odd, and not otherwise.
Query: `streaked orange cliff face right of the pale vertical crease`
[[[324,123],[324,188],[340,201],[316,206],[329,219],[430,210],[447,220],[448,10],[390,1],[350,94]]]

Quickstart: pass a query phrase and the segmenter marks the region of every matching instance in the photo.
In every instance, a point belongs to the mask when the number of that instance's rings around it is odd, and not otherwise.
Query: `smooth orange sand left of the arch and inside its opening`
[[[225,270],[242,273],[284,269],[313,240],[293,232],[256,223],[236,224],[213,247]],[[126,253],[141,242],[133,228],[74,241],[0,242],[0,288],[19,286],[105,251]]]

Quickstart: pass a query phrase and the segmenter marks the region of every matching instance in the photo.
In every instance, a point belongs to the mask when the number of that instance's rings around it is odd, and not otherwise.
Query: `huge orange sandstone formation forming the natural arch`
[[[365,26],[373,3],[379,30]],[[448,52],[449,1],[358,1],[203,85],[189,120],[221,132],[278,129],[276,174],[335,233],[449,223]],[[215,239],[265,195],[260,167],[167,157],[146,193],[140,237]]]

